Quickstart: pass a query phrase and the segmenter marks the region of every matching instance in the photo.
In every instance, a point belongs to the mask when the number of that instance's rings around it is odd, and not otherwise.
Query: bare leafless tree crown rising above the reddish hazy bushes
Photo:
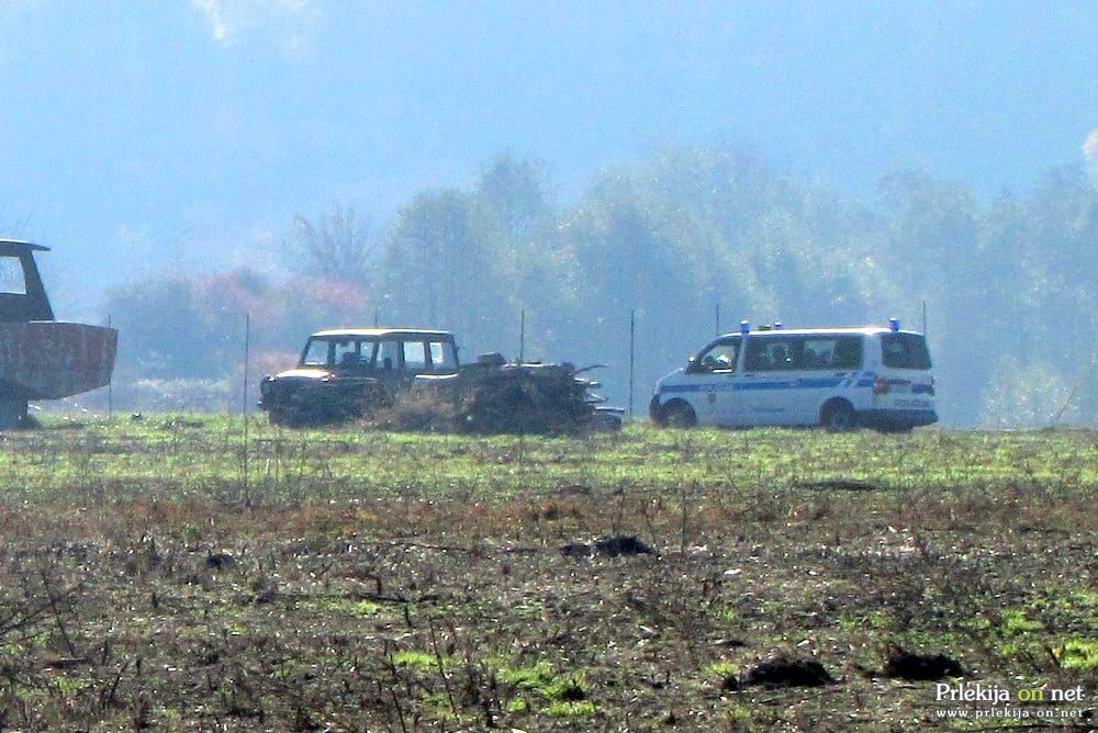
[[[293,233],[283,246],[290,269],[352,283],[366,281],[374,250],[367,225],[356,218],[352,207],[339,203],[315,223],[294,216]]]

